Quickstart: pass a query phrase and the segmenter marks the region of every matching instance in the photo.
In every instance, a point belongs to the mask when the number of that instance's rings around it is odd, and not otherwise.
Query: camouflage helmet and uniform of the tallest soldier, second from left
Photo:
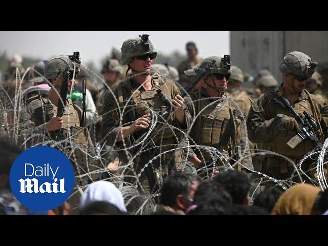
[[[147,37],[146,37],[147,36]],[[142,38],[140,38],[142,37]],[[145,41],[145,38],[147,39]],[[121,56],[121,64],[128,65],[129,61],[132,60],[133,57],[139,55],[147,55],[152,54],[153,58],[156,58],[157,52],[155,51],[152,43],[148,40],[148,34],[139,35],[138,38],[130,38],[127,39],[122,45],[122,56]],[[152,74],[152,73],[151,73]],[[151,113],[150,109],[154,110],[156,113],[161,113],[166,110],[168,107],[163,101],[161,97],[158,96],[157,91],[160,89],[163,94],[167,96],[167,98],[171,100],[179,94],[179,89],[175,85],[175,83],[165,77],[161,77],[158,74],[153,74],[151,77],[151,90],[145,90],[140,84],[136,83],[134,78],[128,76],[125,80],[121,81],[118,85],[117,89],[114,91],[114,96],[117,98],[118,104],[116,104],[116,100],[111,93],[107,93],[104,97],[104,113],[103,113],[103,124],[101,125],[101,133],[104,140],[106,140],[106,144],[109,146],[116,147],[116,151],[119,152],[119,156],[121,160],[128,162],[128,158],[126,156],[125,151],[119,151],[119,149],[124,148],[124,143],[126,147],[130,147],[131,144],[136,140],[142,132],[137,131],[133,134],[130,134],[122,141],[117,142],[117,136],[120,134],[121,126],[131,125],[135,121],[135,119]],[[133,106],[129,106],[125,109],[124,114],[122,115],[121,125],[119,124],[120,120],[120,110],[122,110],[125,105],[128,103],[128,99],[132,100]],[[131,101],[130,101],[131,102]],[[127,113],[127,111],[131,109],[135,111],[135,119],[132,119],[131,114]],[[188,110],[183,108],[185,115],[188,114]],[[130,116],[129,116],[130,115]],[[133,116],[134,117],[134,116]],[[177,127],[180,129],[186,129],[188,127],[187,122],[185,122],[185,126],[180,126],[178,120],[175,117],[174,112],[171,113],[170,117],[167,120],[167,123],[163,122],[162,119],[158,118],[156,129],[153,130],[152,140],[156,147],[147,152],[147,155],[141,154],[145,158],[139,160],[140,154],[134,159],[134,170],[136,170],[137,174],[140,174],[141,168],[143,168],[146,163],[154,158],[155,156],[168,151],[167,153],[163,153],[160,155],[160,158],[156,158],[149,165],[153,165],[153,170],[156,172],[156,175],[159,179],[163,176],[168,175],[171,171],[179,171],[182,169],[182,151],[179,148],[179,137],[180,133],[177,130],[171,129],[170,126]],[[147,129],[146,131],[148,131]],[[149,138],[147,139],[149,140]],[[139,147],[136,147],[139,148]],[[148,149],[149,147],[143,147],[143,150]],[[174,150],[176,149],[177,150]],[[130,149],[131,150],[131,149]],[[173,151],[170,151],[173,150]],[[135,151],[135,149],[133,149]],[[145,163],[145,161],[147,161]],[[145,172],[142,172],[141,182],[146,181],[146,183],[142,183],[142,187],[146,187],[147,190],[147,180]],[[156,180],[158,181],[158,180]],[[135,181],[132,181],[135,182]],[[145,186],[144,186],[145,185]],[[147,192],[147,191],[146,191]]]

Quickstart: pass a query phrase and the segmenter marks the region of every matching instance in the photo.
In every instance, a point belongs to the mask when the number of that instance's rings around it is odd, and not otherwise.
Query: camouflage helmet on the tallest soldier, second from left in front
[[[150,40],[148,34],[139,35],[139,37],[129,38],[125,40],[121,48],[121,64],[128,65],[133,57],[139,55],[152,54],[153,59],[156,58],[157,52]]]

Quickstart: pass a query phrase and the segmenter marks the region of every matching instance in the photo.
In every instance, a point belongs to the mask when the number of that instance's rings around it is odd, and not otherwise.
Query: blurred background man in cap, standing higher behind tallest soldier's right
[[[201,57],[197,57],[198,55],[198,49],[196,47],[196,44],[194,42],[188,42],[186,44],[186,51],[188,54],[188,59],[181,61],[181,63],[178,66],[179,76],[180,80],[179,83],[182,85],[183,83],[188,83],[188,76],[184,73],[185,70],[191,69],[194,66],[196,66],[198,63],[200,63],[203,59]]]

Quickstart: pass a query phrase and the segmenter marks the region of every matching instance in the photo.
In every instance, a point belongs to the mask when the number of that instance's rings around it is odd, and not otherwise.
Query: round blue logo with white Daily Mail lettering
[[[15,159],[9,181],[12,193],[25,207],[47,211],[59,207],[72,193],[74,170],[60,151],[37,146]]]

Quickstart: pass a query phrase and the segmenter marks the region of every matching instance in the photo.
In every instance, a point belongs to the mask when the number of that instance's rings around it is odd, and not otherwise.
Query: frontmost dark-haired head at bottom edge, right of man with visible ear
[[[188,210],[188,215],[228,215],[231,203],[222,193],[209,193],[198,200],[197,205]]]

